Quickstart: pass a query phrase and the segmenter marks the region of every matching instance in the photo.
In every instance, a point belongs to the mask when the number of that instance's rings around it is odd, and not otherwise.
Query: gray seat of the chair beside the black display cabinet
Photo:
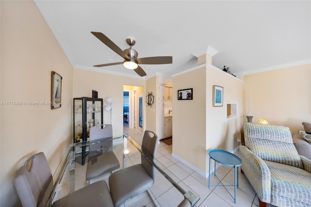
[[[104,173],[109,173],[119,168],[119,160],[113,152],[89,157],[86,168],[86,180],[93,179],[103,175]]]

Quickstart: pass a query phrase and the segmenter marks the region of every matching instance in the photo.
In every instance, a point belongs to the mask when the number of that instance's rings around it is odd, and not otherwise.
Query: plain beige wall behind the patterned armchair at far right
[[[292,133],[311,122],[311,64],[244,75],[243,121],[248,99],[253,122],[266,119],[269,124],[285,125]],[[248,98],[249,97],[249,98]]]

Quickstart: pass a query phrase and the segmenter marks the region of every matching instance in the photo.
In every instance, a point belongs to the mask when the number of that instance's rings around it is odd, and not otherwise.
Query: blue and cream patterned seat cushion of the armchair
[[[272,204],[276,206],[311,204],[311,173],[290,165],[272,161],[264,162],[271,174]],[[289,203],[285,204],[284,201]]]

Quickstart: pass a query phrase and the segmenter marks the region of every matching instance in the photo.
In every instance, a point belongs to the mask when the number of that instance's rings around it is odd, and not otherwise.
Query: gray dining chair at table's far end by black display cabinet
[[[104,128],[99,128],[99,126],[91,127],[89,130],[89,142],[86,167],[87,185],[91,179],[120,168],[120,162],[113,153],[111,124],[105,124]]]

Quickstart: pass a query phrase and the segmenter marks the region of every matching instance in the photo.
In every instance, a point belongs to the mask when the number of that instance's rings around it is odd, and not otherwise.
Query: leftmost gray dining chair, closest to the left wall
[[[28,162],[31,166],[28,170]],[[22,166],[14,180],[23,207],[45,207],[53,191],[53,177],[47,158],[43,152],[30,157]],[[92,205],[113,207],[109,189],[105,181],[98,181],[76,190],[55,201],[52,207],[85,207]]]

